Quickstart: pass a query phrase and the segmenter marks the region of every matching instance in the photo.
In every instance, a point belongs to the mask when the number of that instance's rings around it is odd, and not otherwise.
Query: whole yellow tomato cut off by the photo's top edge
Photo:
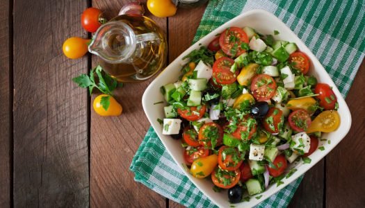
[[[171,17],[177,10],[171,0],[147,0],[147,8],[156,17]]]

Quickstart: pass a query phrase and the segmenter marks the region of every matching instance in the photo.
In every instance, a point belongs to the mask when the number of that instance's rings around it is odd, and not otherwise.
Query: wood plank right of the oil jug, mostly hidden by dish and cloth
[[[206,5],[199,8],[179,9],[177,14],[168,18],[169,61],[172,62],[193,42],[197,27],[200,24]],[[184,35],[181,35],[184,34]],[[169,200],[169,207],[184,207]]]

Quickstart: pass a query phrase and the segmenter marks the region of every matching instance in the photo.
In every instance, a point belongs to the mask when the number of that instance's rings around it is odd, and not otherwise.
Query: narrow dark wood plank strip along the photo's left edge
[[[10,207],[10,143],[11,141],[11,108],[10,96],[12,96],[12,80],[10,73],[10,26],[9,11],[10,2],[0,1],[0,207]]]

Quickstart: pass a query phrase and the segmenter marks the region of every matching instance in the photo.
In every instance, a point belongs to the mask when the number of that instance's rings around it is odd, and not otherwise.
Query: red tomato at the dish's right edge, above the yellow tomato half
[[[325,108],[325,110],[334,110],[337,98],[330,85],[318,83],[316,88],[314,88],[314,92],[319,94],[317,98],[320,100],[319,105],[321,105],[321,107]]]

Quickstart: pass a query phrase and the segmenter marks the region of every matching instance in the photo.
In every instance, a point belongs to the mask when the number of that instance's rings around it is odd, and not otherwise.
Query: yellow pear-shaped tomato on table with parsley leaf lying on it
[[[109,107],[108,110],[105,110],[102,105],[102,97],[109,97]],[[94,100],[94,103],[92,105],[94,107],[94,110],[97,114],[100,116],[119,116],[122,114],[122,105],[120,105],[117,101],[115,101],[115,98],[112,96],[109,96],[107,94],[101,94],[97,96]]]

